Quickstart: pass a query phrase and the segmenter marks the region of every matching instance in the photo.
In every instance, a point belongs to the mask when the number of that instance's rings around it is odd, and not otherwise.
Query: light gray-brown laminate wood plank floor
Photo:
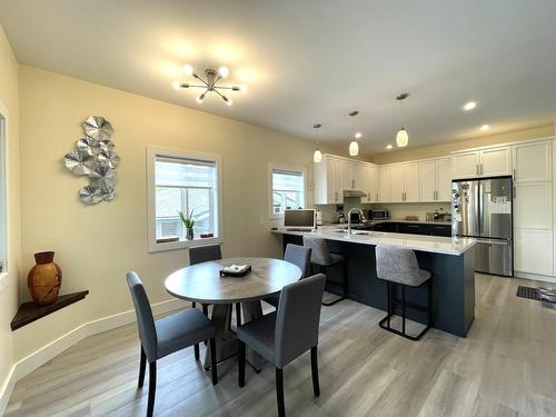
[[[518,285],[536,284],[476,275],[466,339],[431,329],[410,341],[377,326],[383,311],[322,307],[321,395],[304,355],[285,369],[288,416],[556,416],[556,308],[516,297]],[[18,381],[6,416],[145,416],[138,369],[136,325],[89,337]],[[160,360],[155,414],[276,415],[270,365],[248,367],[242,389],[235,359],[218,373],[212,387],[192,348]]]

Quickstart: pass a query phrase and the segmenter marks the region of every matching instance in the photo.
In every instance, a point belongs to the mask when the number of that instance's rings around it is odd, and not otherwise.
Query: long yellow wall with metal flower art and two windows
[[[188,251],[147,251],[147,145],[220,153],[224,256],[280,255],[280,241],[269,232],[268,165],[306,167],[311,185],[311,142],[24,66],[20,86],[22,267],[32,266],[34,252],[54,250],[62,292],[89,289],[90,295],[17,330],[17,359],[83,321],[131,309],[128,270],[142,277],[151,302],[169,298],[163,279],[188,264]],[[62,165],[90,115],[112,123],[121,157],[117,197],[98,206],[79,201],[87,180]]]

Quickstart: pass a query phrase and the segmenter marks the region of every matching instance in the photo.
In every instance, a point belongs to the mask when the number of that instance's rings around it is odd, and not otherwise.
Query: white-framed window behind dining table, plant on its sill
[[[149,250],[221,241],[220,157],[148,148]],[[195,220],[193,238],[179,217]]]

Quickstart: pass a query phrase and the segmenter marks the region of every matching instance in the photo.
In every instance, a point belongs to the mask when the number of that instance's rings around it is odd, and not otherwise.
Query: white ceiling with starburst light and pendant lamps
[[[410,147],[554,123],[555,21],[554,0],[0,0],[23,64],[346,147],[357,109],[366,153],[400,123]],[[185,63],[249,92],[198,105]]]

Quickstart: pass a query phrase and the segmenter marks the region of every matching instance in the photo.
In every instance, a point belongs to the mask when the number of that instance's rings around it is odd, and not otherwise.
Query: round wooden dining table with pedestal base
[[[231,265],[250,265],[251,270],[242,277],[221,276],[220,271]],[[178,269],[166,278],[165,287],[176,298],[212,306],[210,319],[215,325],[217,361],[222,361],[239,350],[231,326],[232,305],[236,305],[236,326],[255,320],[262,316],[264,298],[278,295],[301,276],[298,266],[281,259],[227,258]],[[247,360],[257,371],[264,364],[262,357],[252,350],[247,351]],[[205,368],[209,365],[207,349]]]

